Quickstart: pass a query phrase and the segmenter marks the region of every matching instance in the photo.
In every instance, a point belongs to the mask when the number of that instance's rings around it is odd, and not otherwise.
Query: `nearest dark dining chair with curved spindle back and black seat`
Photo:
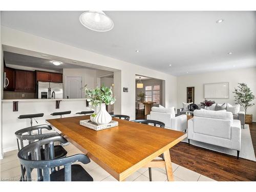
[[[32,181],[31,172],[37,169],[37,181],[93,181],[93,178],[80,164],[90,163],[84,154],[56,159],[54,156],[54,142],[66,143],[61,136],[50,137],[33,142],[18,152],[18,159],[22,166],[22,181]],[[45,159],[41,159],[40,149],[45,148]],[[31,154],[31,159],[29,155]],[[56,170],[55,167],[64,166]]]

